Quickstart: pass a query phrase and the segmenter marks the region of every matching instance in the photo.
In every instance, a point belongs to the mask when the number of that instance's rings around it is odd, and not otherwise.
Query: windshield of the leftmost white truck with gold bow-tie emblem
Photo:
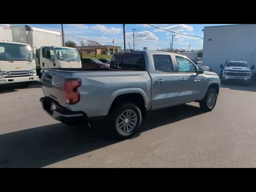
[[[0,43],[0,60],[33,60],[29,45]]]

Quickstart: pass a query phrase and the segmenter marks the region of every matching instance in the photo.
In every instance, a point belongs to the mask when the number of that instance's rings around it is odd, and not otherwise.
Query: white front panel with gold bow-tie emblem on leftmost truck
[[[28,71],[33,70],[32,62],[29,61],[0,61],[2,71]]]

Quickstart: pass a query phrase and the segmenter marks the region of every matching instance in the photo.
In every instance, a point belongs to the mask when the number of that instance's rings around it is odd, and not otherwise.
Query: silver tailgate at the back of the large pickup
[[[41,77],[44,96],[54,99],[61,106],[66,106],[64,74],[65,72],[43,69]]]

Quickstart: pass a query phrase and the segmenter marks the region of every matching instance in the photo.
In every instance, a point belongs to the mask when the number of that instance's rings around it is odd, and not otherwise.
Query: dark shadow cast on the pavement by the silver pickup
[[[184,111],[186,111],[184,113]],[[132,140],[141,132],[202,114],[199,107],[181,105],[149,112]],[[171,129],[172,127],[170,127]],[[0,167],[43,167],[120,142],[102,128],[69,127],[62,123],[0,135]]]

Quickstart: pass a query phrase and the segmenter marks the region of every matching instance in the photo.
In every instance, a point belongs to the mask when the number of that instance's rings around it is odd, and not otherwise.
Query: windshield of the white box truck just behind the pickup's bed
[[[80,56],[77,49],[71,48],[56,48],[58,60],[62,61],[80,61]]]

